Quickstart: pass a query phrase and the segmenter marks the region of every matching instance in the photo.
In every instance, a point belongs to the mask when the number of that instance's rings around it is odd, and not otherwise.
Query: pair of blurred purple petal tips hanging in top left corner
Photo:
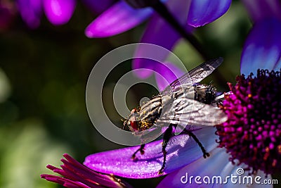
[[[43,11],[53,25],[63,25],[72,17],[76,0],[17,0],[22,20],[30,28],[40,25]]]

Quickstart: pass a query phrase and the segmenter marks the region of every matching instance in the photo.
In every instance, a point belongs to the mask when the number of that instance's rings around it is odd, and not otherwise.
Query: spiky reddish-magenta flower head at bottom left
[[[54,173],[58,173],[63,177],[44,174],[41,175],[41,178],[70,188],[131,187],[129,184],[117,179],[114,175],[105,175],[86,168],[86,166],[80,164],[68,154],[64,154],[63,156],[65,159],[61,159],[63,165],[60,165],[60,168],[47,165],[48,169],[53,170]]]

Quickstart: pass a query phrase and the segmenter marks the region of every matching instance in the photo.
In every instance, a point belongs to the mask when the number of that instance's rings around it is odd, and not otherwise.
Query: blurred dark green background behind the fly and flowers
[[[10,27],[0,32],[0,187],[60,187],[39,175],[50,173],[47,164],[60,165],[63,153],[83,162],[90,153],[122,147],[100,136],[91,124],[85,104],[86,82],[99,58],[118,46],[138,42],[145,23],[115,37],[89,39],[84,29],[95,17],[78,2],[66,25],[55,27],[43,18],[38,29],[30,30],[15,15]],[[221,91],[228,89],[226,81],[235,82],[250,27],[244,7],[234,1],[226,15],[195,31],[212,57],[225,59],[205,82],[212,80]],[[203,61],[185,40],[178,42],[174,52],[188,70]],[[105,84],[107,114],[119,125],[121,117],[110,92],[129,70],[131,63],[124,63]],[[129,108],[153,94],[152,87],[133,87],[127,97]],[[155,187],[160,180],[126,181],[134,187]]]

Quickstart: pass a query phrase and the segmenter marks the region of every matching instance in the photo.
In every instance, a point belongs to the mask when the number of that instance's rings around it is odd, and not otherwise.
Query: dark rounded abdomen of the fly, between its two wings
[[[211,104],[216,99],[216,88],[212,85],[196,85],[194,89],[196,101],[200,101],[204,104]]]

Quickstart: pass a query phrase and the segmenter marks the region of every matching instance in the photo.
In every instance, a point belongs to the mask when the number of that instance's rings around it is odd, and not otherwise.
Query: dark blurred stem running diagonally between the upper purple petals
[[[162,16],[162,18],[164,18],[164,20],[166,20],[172,27],[174,27],[174,29],[183,38],[188,40],[188,42],[190,42],[190,44],[192,44],[192,46],[194,46],[194,48],[202,55],[202,57],[204,58],[205,61],[210,59],[206,53],[206,50],[203,48],[202,44],[200,44],[200,42],[193,35],[186,32],[185,28],[180,23],[178,23],[178,20],[176,20],[176,18],[174,18],[174,15],[172,15],[170,13],[168,8],[166,8],[166,6],[161,1],[157,1],[157,3],[153,4],[152,8],[160,16]]]

